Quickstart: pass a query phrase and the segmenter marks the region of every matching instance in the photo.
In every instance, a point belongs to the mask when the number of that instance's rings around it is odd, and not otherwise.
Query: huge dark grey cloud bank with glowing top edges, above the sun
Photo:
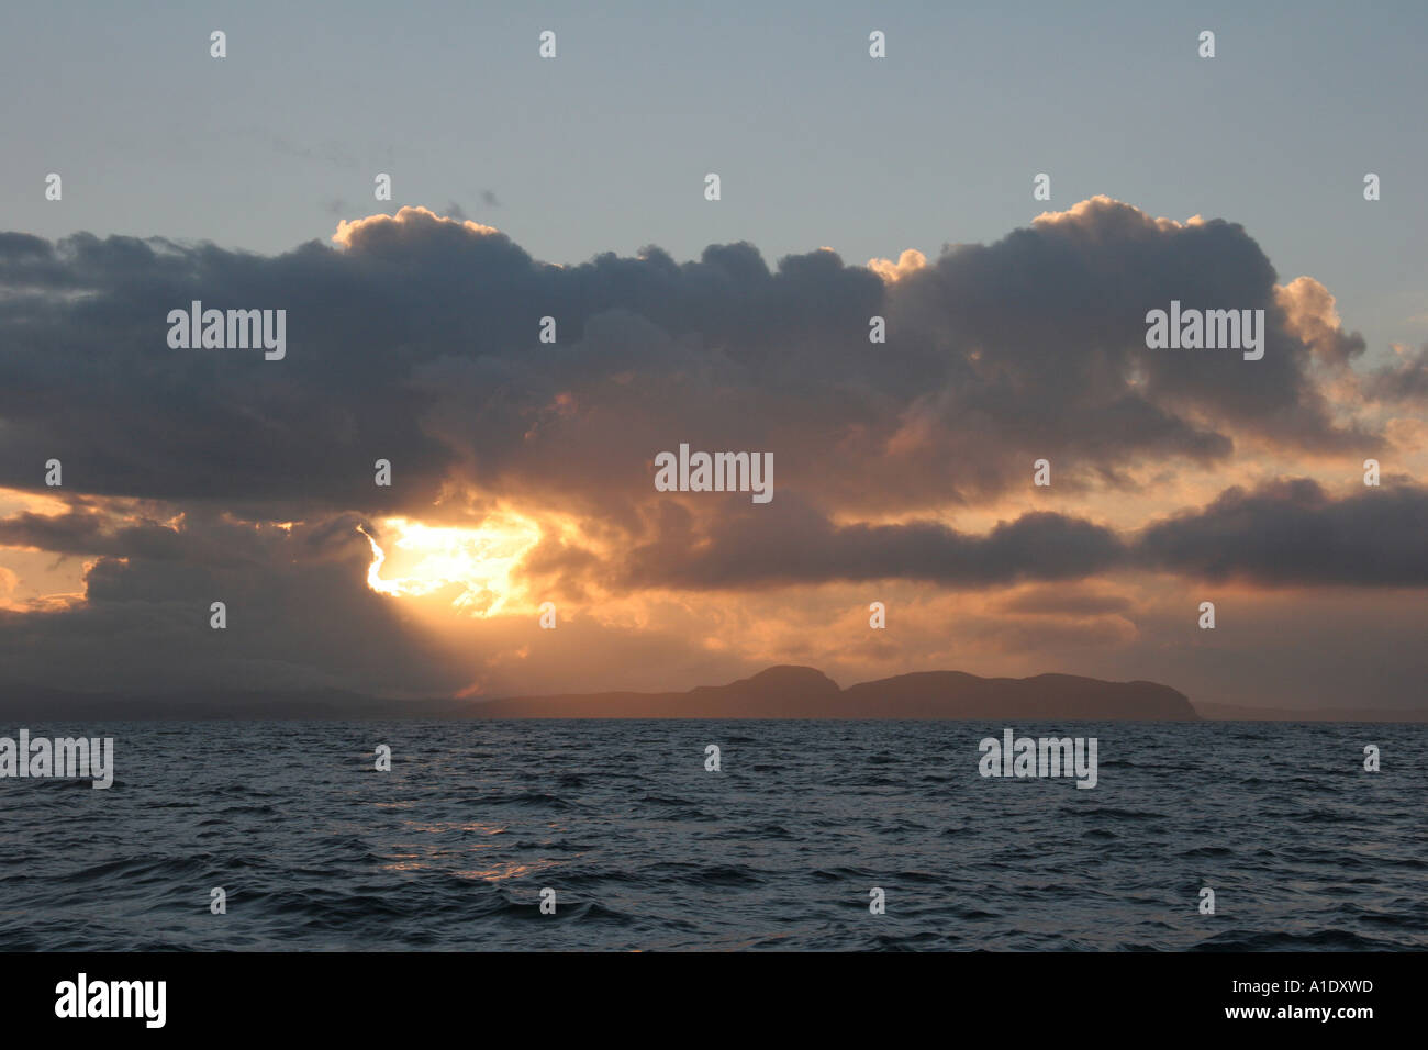
[[[627,513],[678,441],[775,453],[828,507],[917,509],[1147,460],[1211,463],[1238,434],[1372,451],[1329,420],[1245,231],[1098,200],[885,284],[833,251],[650,247],[555,267],[474,223],[404,210],[261,257],[213,244],[0,236],[0,484],[64,461],[79,491],[301,509],[490,494]],[[1151,351],[1144,314],[1265,309],[1261,361]],[[286,309],[287,357],[170,350],[169,310]],[[888,343],[868,319],[888,319]],[[558,341],[537,339],[554,317]],[[397,484],[371,483],[390,459]]]

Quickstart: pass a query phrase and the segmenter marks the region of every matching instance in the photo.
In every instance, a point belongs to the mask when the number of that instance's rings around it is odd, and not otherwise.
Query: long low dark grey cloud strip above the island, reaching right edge
[[[917,580],[968,589],[1150,570],[1261,586],[1428,586],[1428,490],[1365,489],[1332,499],[1292,479],[1224,491],[1210,506],[1120,534],[1054,513],[1022,514],[984,536],[938,523],[834,526],[784,500],[717,521],[664,514],[635,547],[624,583],[693,590],[793,583]],[[1062,600],[1064,599],[1064,600]],[[1120,599],[1022,597],[1012,611],[1114,611]]]

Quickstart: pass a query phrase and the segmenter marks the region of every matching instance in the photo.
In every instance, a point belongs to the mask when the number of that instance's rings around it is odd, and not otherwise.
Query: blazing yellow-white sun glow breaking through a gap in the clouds
[[[491,514],[474,529],[383,519],[380,534],[387,550],[361,526],[357,531],[371,544],[367,586],[374,591],[424,597],[450,589],[451,607],[476,617],[496,616],[507,606],[514,591],[511,574],[541,537],[540,526],[508,511]],[[390,579],[383,577],[383,569]]]

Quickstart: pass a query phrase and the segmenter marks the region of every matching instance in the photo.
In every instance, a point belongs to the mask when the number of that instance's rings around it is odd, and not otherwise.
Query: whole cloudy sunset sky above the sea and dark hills
[[[0,680],[1422,706],[1428,9],[768,7],[0,11]]]

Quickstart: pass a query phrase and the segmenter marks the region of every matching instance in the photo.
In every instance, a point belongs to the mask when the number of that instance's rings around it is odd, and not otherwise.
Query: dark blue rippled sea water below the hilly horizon
[[[1428,947],[1428,726],[1014,726],[1090,790],[970,721],[29,729],[116,776],[0,780],[9,950]]]

